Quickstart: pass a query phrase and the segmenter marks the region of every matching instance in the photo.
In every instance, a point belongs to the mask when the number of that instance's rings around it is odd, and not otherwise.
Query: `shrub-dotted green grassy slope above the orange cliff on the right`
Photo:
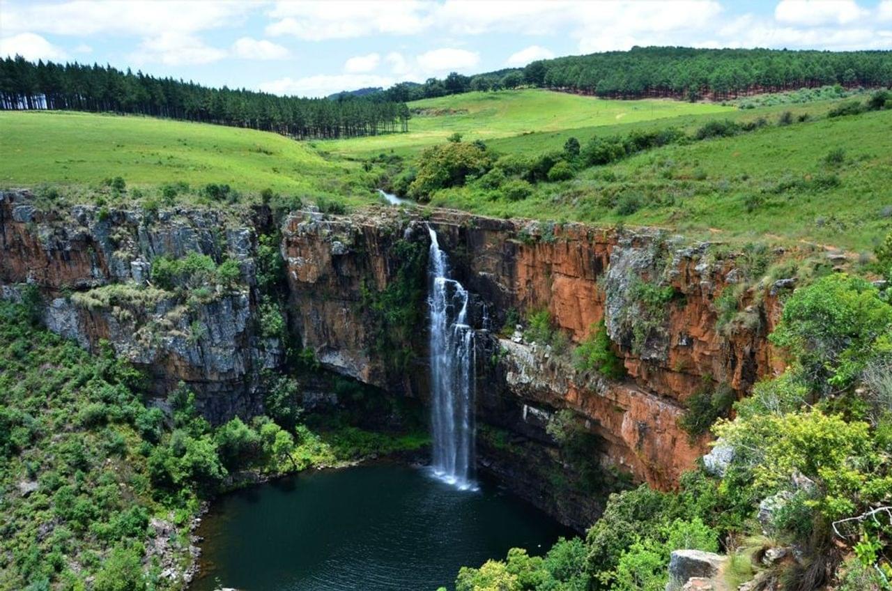
[[[867,251],[892,229],[890,132],[889,111],[770,125],[664,146],[591,167],[574,179],[541,182],[520,201],[472,182],[437,192],[431,204]]]

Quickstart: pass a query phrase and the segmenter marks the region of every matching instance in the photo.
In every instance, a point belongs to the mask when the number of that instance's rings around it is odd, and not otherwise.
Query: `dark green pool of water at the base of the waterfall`
[[[572,532],[497,487],[459,491],[424,470],[325,470],[220,499],[198,532],[210,591],[434,591],[458,568],[541,554]]]

